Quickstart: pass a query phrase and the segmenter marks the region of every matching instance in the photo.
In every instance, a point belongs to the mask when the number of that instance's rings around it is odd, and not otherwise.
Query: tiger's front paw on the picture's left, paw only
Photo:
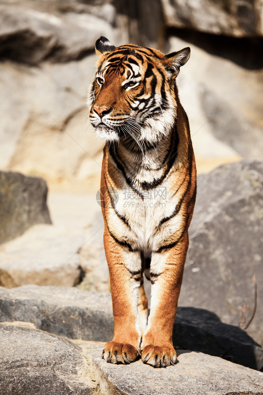
[[[128,363],[134,362],[139,356],[139,352],[131,344],[116,343],[114,341],[105,344],[102,357],[110,363]]]

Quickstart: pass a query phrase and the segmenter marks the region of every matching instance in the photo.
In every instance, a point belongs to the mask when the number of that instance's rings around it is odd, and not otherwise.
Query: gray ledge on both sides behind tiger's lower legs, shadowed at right
[[[12,321],[89,341],[112,340],[114,330],[110,293],[66,287],[0,288],[0,322]],[[179,307],[173,344],[177,350],[205,352],[252,369],[263,367],[263,349],[240,328],[223,324],[207,310]]]

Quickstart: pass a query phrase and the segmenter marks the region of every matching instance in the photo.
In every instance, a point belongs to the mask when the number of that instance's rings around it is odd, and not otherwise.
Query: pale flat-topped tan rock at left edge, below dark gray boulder
[[[32,226],[22,236],[1,245],[2,286],[75,285],[81,275],[78,250],[84,242],[78,229]]]

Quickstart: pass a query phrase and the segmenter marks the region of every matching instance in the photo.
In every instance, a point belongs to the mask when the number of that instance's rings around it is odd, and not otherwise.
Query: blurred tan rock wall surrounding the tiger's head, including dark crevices
[[[85,99],[101,35],[166,53],[191,47],[178,85],[200,172],[262,159],[261,2],[9,0],[0,6],[2,169],[97,188],[101,143]]]

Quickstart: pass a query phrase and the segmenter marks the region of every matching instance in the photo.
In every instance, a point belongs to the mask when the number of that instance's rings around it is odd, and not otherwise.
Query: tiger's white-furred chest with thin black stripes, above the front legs
[[[118,199],[108,206],[108,226],[116,238],[139,250],[158,250],[169,244],[183,226],[180,212],[167,220],[180,200],[170,182],[168,177],[155,188],[138,188],[139,193],[128,184],[118,191]]]

